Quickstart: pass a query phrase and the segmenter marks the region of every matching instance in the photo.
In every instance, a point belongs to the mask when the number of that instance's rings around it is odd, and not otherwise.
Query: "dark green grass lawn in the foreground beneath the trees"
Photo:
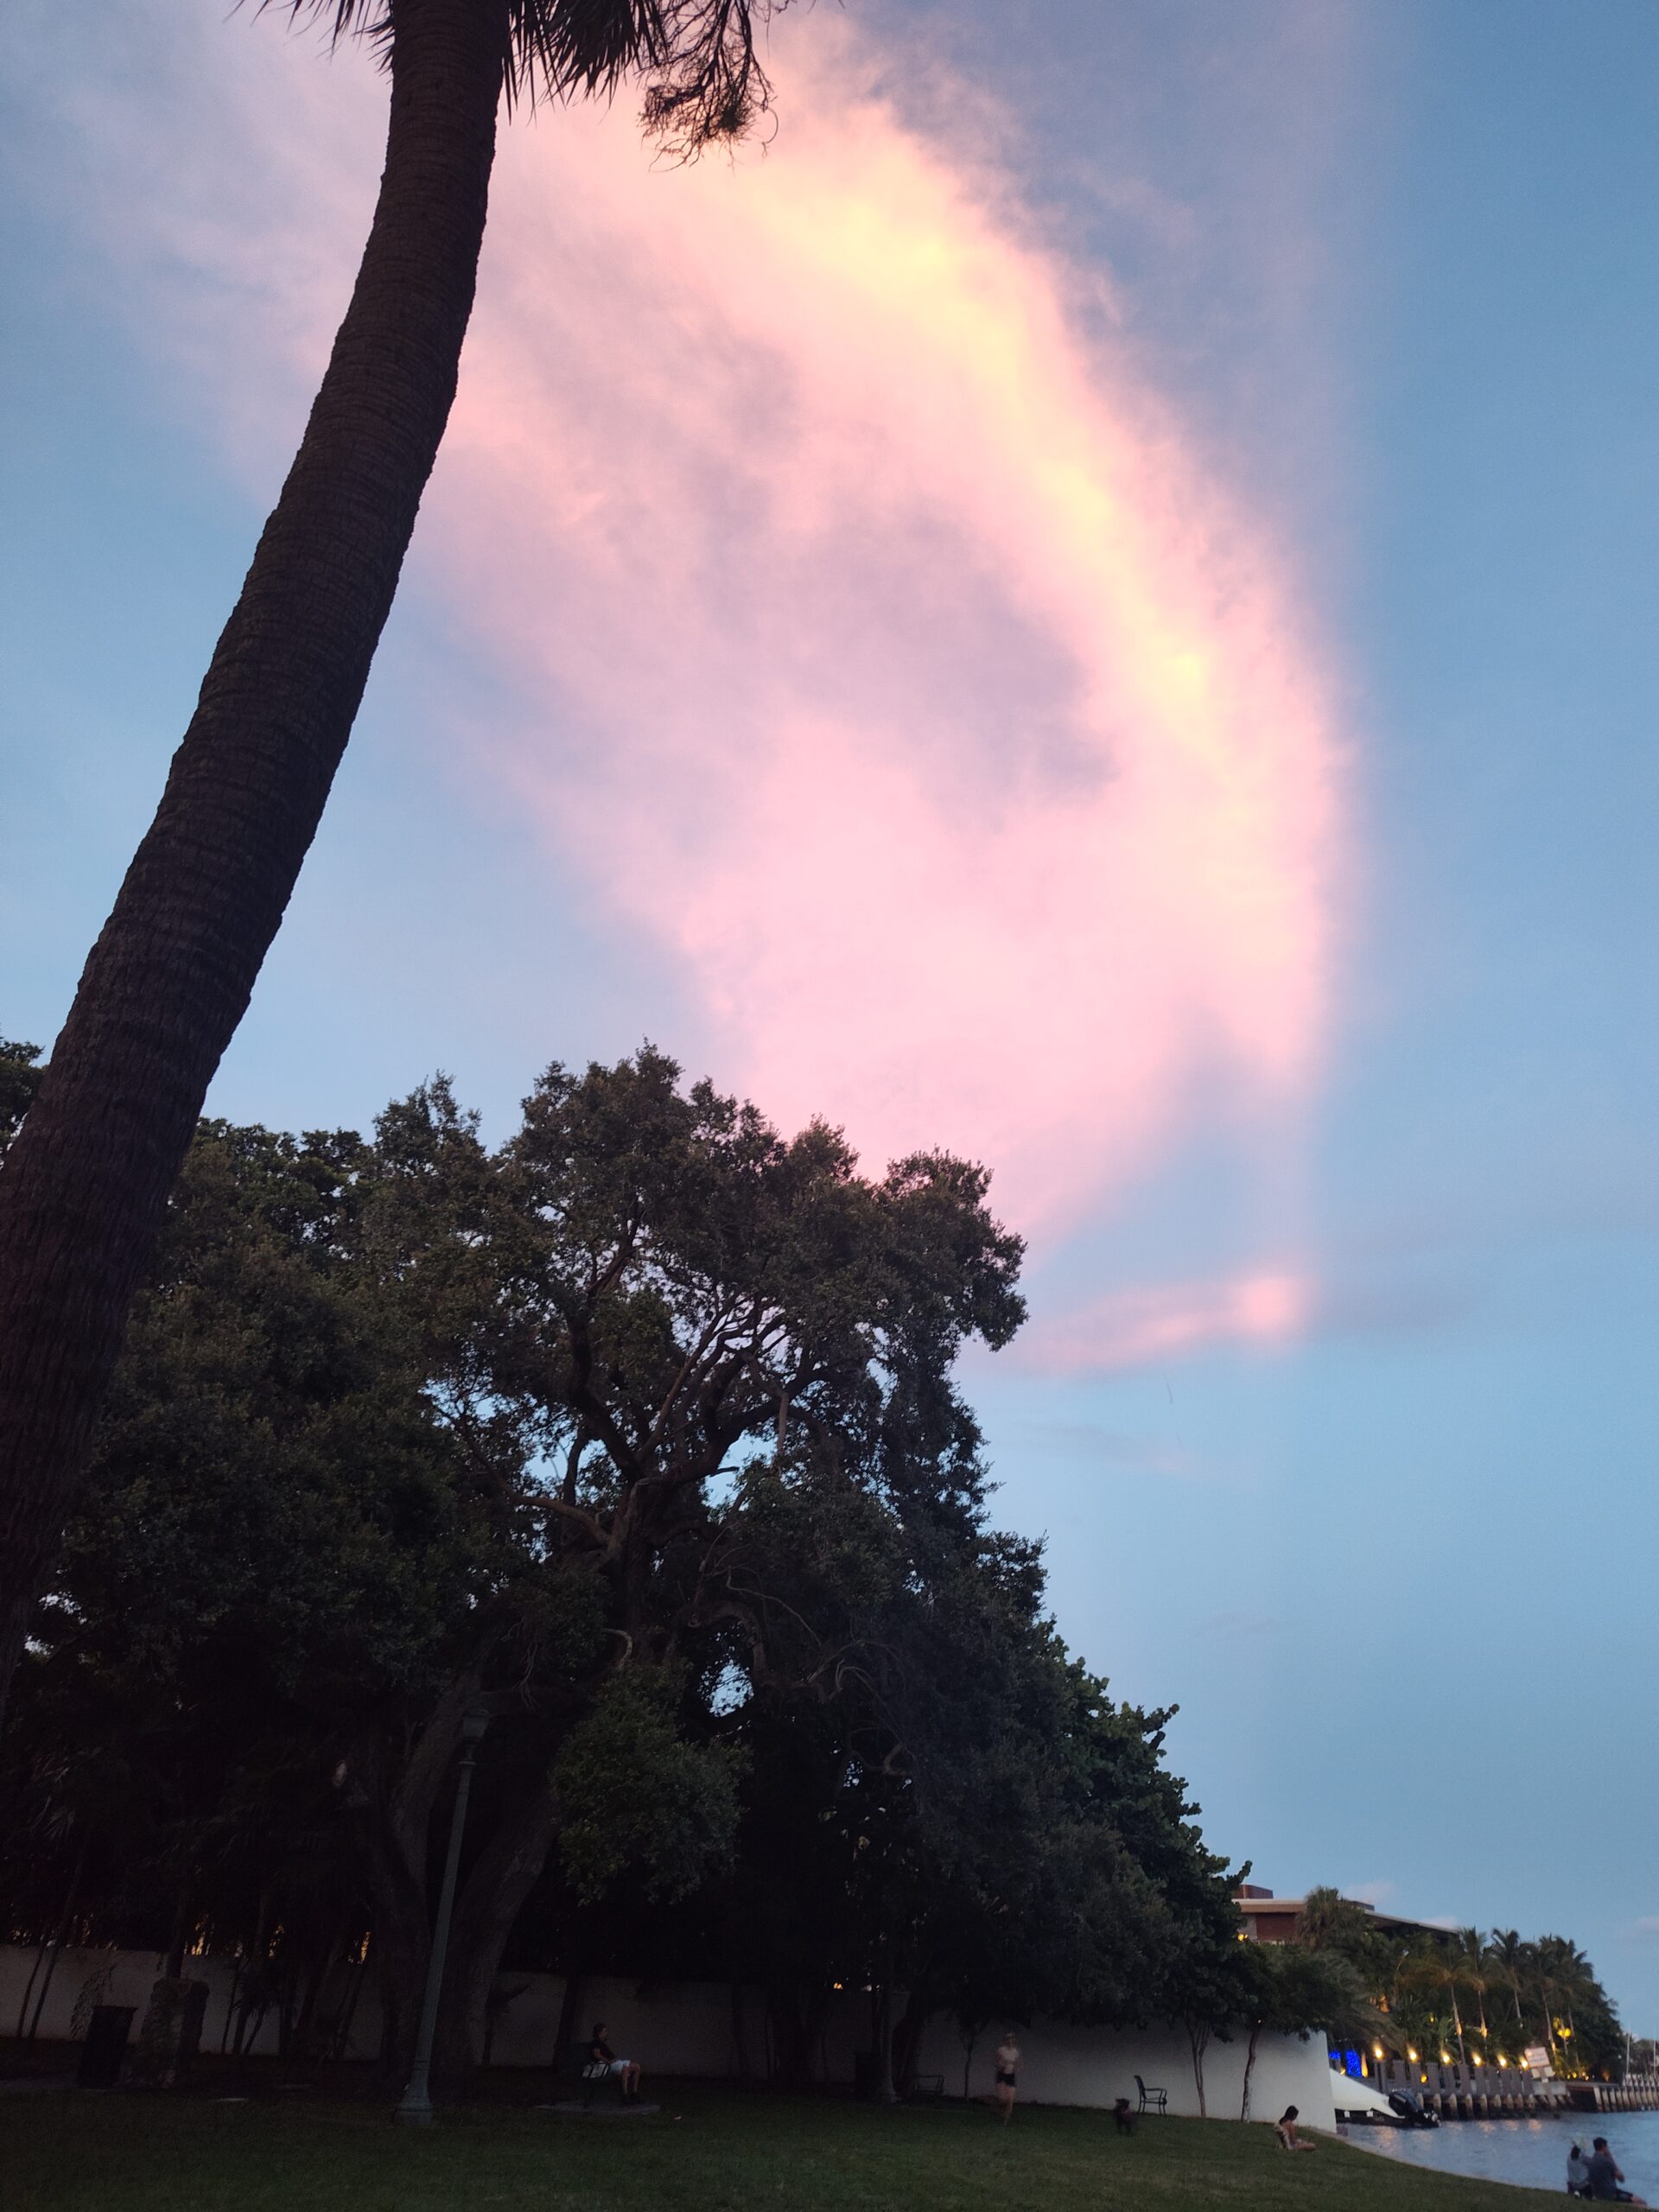
[[[1528,2192],[1531,2194],[1531,2192]],[[1542,2194],[1535,2203],[1542,2205]],[[686,2090],[637,2121],[467,2108],[431,2132],[361,2104],[0,2097],[4,2212],[1520,2212],[1502,2183],[1267,2128],[1026,2108],[885,2110]]]

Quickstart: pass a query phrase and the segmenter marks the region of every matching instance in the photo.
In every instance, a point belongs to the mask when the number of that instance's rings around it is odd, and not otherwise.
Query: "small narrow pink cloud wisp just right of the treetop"
[[[1066,1314],[1037,1316],[1020,1338],[1020,1360],[1040,1374],[1110,1374],[1210,1345],[1290,1343],[1312,1314],[1312,1283],[1290,1272],[1113,1292]]]

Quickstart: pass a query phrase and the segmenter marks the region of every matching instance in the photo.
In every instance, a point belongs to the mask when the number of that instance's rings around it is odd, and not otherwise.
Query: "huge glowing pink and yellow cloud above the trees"
[[[212,9],[168,51],[197,122],[126,248],[274,453],[383,95]],[[1316,1071],[1329,686],[1281,549],[1099,338],[1099,274],[878,62],[785,18],[783,124],[737,164],[653,168],[622,108],[504,135],[416,582],[526,701],[467,732],[473,772],[672,964],[721,1082],[874,1157],[984,1157],[1060,1228],[1201,1104]]]

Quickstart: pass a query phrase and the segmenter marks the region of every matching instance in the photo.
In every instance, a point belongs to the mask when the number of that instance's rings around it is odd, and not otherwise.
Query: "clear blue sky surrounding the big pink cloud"
[[[1296,1327],[969,1383],[1066,1637],[1181,1703],[1219,1847],[1279,1891],[1559,1929],[1652,2031],[1659,15],[1241,13],[849,7],[931,144],[947,95],[995,100],[1020,219],[1290,549],[1343,763],[1310,1071],[1267,1113],[1221,1077],[1170,1099],[1033,1263],[1042,1316],[1294,1252]],[[246,352],[252,427],[215,380],[221,279],[186,268],[177,343],[190,234],[102,215],[166,192],[166,102],[219,46],[270,46],[212,9],[168,38],[166,82],[88,84],[29,0],[0,60],[0,1029],[42,1044],[294,427]],[[557,745],[560,681],[416,555],[217,1110],[361,1124],[447,1066],[500,1130],[544,1060],[646,1033],[745,1079],[684,949],[458,743]]]

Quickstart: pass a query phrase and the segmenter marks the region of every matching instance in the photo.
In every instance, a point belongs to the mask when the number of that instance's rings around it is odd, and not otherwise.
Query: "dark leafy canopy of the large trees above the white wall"
[[[953,1380],[1020,1256],[982,1168],[648,1046],[495,1148],[442,1077],[204,1124],[20,1674],[13,1929],[232,1947],[296,2039],[367,1942],[396,2073],[482,1705],[451,2073],[504,1962],[754,1980],[785,2070],[836,1984],[900,2073],[933,2011],[1170,2015],[1228,1869]]]

